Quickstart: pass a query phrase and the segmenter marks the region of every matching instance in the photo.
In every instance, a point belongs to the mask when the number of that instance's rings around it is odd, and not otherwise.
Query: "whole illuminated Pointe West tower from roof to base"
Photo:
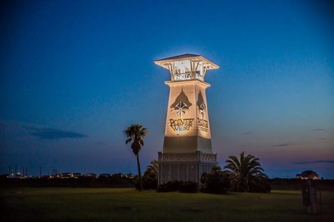
[[[212,152],[204,81],[207,70],[218,65],[195,54],[154,61],[170,72],[164,148],[159,152],[159,184],[170,180],[200,184],[202,173],[217,164]]]

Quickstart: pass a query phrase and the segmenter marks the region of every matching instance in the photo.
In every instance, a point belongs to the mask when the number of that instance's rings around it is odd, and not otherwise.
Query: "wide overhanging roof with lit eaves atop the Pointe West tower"
[[[207,59],[203,56],[200,56],[200,55],[196,55],[196,54],[182,54],[182,55],[179,55],[179,56],[161,58],[161,59],[158,59],[158,60],[154,61],[154,63],[157,64],[157,65],[160,65],[163,68],[166,68],[166,64],[168,64],[168,63],[171,63],[173,61],[184,61],[184,60],[202,61],[207,66],[208,70],[214,70],[214,69],[219,68],[218,65],[216,65],[212,61],[209,61],[209,59]]]

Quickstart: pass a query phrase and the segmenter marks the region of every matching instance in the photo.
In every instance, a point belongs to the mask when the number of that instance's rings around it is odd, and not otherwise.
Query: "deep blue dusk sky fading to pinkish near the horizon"
[[[329,2],[329,1],[328,1]],[[122,131],[162,150],[170,79],[200,54],[212,148],[269,177],[334,178],[334,17],[326,1],[1,1],[0,173],[136,173]]]

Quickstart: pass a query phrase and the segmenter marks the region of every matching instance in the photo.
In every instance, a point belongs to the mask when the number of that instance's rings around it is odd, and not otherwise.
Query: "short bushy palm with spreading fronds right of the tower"
[[[241,152],[240,159],[235,156],[228,157],[225,169],[228,169],[234,191],[249,191],[250,185],[256,186],[261,179],[267,179],[268,176],[263,173],[263,168],[259,162],[259,158]]]

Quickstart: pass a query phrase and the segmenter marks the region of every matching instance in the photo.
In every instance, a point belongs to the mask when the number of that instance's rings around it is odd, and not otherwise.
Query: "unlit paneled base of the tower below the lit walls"
[[[189,153],[158,152],[158,185],[168,181],[192,181],[200,185],[202,173],[209,173],[216,166],[216,154],[200,151]]]

